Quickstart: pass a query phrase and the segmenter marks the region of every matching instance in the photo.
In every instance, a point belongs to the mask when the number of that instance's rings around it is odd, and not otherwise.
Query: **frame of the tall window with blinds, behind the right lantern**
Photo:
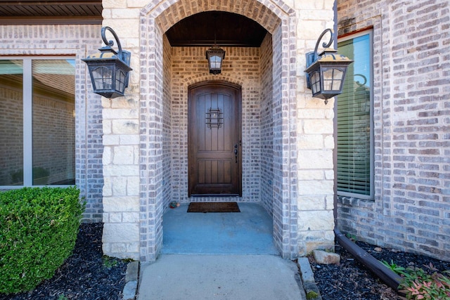
[[[370,166],[370,171],[369,171],[369,176],[370,176],[370,184],[369,184],[369,189],[370,189],[370,193],[369,195],[362,195],[359,193],[351,193],[351,192],[344,192],[344,191],[340,191],[338,190],[338,106],[336,105],[336,169],[335,169],[335,176],[336,176],[336,194],[338,195],[338,197],[353,197],[353,198],[359,198],[359,199],[364,199],[364,200],[374,200],[375,198],[375,185],[374,185],[374,181],[375,181],[375,135],[374,135],[374,122],[373,122],[373,83],[374,83],[374,79],[373,79],[373,28],[369,28],[366,30],[361,30],[358,32],[354,32],[354,33],[349,33],[346,34],[345,37],[338,37],[338,43],[341,43],[343,41],[349,41],[349,40],[353,40],[356,39],[358,37],[363,37],[365,35],[368,35],[369,38],[369,65],[371,65],[371,70],[370,70],[370,74],[371,74],[371,85],[370,85],[370,98],[369,98],[369,138],[370,138],[370,142],[369,142],[369,157],[370,157],[370,162],[369,162],[369,166]],[[338,46],[338,51],[339,51],[339,46]],[[348,76],[348,74],[347,74]],[[336,97],[336,101],[339,101],[338,96]]]

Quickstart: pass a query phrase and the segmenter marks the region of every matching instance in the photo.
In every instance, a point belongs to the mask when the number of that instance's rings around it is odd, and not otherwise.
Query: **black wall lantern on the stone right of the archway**
[[[319,42],[326,32],[330,32],[330,41],[328,44],[322,44],[325,49],[318,55]],[[328,103],[329,98],[342,93],[347,67],[353,63],[353,60],[339,55],[335,49],[328,48],[331,43],[333,43],[333,32],[326,29],[317,40],[314,52],[307,53],[307,69],[304,70],[307,72],[307,87],[311,89],[312,96],[324,99],[325,104]]]

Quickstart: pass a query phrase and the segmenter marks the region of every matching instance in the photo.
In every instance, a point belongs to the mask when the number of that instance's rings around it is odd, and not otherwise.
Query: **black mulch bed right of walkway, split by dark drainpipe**
[[[397,266],[418,267],[428,270],[425,266],[430,263],[439,271],[450,270],[450,262],[432,259],[428,256],[399,252],[392,249],[381,248],[375,251],[377,246],[356,241],[356,244],[366,250],[375,259],[397,264]],[[378,249],[379,250],[379,249]],[[397,293],[384,285],[376,275],[371,273],[364,265],[359,263],[352,254],[336,244],[335,252],[340,254],[340,265],[319,265],[314,257],[309,257],[309,263],[314,273],[314,279],[319,287],[323,300],[394,300]]]

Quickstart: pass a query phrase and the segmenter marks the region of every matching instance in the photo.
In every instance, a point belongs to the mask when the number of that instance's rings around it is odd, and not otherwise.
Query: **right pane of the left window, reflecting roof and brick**
[[[33,185],[75,184],[75,60],[32,62]]]

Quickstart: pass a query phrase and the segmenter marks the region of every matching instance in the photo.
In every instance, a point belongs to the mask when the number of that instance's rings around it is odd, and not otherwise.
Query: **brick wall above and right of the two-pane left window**
[[[76,60],[75,180],[86,200],[86,222],[102,220],[103,132],[101,98],[91,92],[89,74],[80,59],[97,51],[100,31],[99,25],[0,26],[0,56],[64,55]]]

